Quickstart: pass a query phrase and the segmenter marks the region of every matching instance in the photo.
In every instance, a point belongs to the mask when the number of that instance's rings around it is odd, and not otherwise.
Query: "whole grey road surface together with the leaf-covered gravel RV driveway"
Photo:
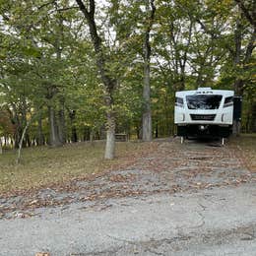
[[[0,255],[256,255],[256,175],[177,140],[127,169],[0,198]]]

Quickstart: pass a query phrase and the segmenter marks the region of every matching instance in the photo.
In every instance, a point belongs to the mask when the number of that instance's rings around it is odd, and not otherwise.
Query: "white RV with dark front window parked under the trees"
[[[233,91],[211,88],[176,92],[174,123],[181,141],[188,137],[228,137],[234,119],[233,99]],[[238,110],[240,119],[240,106]]]

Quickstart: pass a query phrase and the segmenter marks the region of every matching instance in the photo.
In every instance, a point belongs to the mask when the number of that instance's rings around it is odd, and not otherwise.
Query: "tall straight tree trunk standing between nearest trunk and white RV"
[[[142,123],[142,139],[143,141],[152,141],[152,112],[151,112],[151,45],[150,45],[150,32],[152,30],[153,22],[155,19],[156,7],[154,0],[145,0],[147,12],[147,25],[144,37],[144,86],[143,86],[143,123]],[[151,7],[150,7],[151,5]],[[151,10],[150,10],[151,8]],[[149,16],[149,17],[148,17]]]

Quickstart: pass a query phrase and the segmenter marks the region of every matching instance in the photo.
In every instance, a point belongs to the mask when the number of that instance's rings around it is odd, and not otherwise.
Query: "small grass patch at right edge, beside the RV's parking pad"
[[[231,144],[239,149],[237,154],[241,155],[247,168],[256,172],[256,134],[241,134],[232,138]]]

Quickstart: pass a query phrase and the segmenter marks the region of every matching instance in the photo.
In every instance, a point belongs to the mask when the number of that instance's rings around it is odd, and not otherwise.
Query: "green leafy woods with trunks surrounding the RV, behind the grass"
[[[6,148],[174,133],[174,93],[243,97],[256,132],[253,0],[0,1],[0,137]],[[1,148],[1,147],[0,147]]]

